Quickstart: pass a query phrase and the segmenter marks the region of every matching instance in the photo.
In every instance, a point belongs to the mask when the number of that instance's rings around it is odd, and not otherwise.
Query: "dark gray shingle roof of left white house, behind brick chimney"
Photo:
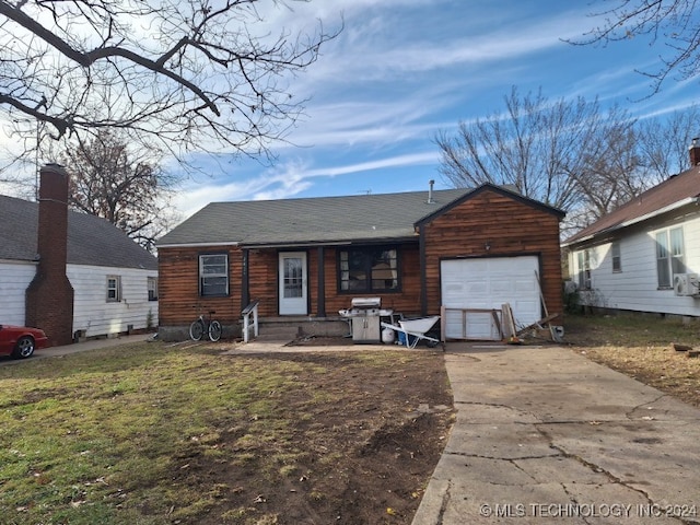
[[[34,260],[38,203],[0,195],[0,259]],[[121,230],[98,217],[68,212],[71,265],[158,270],[158,259]]]

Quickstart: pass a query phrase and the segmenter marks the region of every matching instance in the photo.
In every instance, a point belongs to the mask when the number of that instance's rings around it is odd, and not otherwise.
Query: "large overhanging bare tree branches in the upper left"
[[[335,35],[271,33],[276,0],[0,0],[0,110],[32,141],[121,129],[171,153],[269,152],[303,101],[290,74]]]

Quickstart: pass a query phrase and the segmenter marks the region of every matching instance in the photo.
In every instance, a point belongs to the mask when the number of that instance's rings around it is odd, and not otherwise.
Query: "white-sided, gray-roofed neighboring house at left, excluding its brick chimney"
[[[0,196],[0,324],[26,324],[38,267],[39,205]],[[58,242],[58,240],[57,240]],[[72,334],[116,335],[158,324],[158,259],[98,217],[68,212],[66,275]]]

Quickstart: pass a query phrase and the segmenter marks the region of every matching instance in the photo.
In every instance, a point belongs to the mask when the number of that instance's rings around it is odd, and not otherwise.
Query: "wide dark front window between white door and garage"
[[[396,248],[366,247],[339,252],[341,292],[395,292],[399,290]]]

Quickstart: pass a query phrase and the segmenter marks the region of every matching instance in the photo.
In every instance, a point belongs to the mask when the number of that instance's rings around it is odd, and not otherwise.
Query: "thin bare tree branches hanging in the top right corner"
[[[640,71],[652,80],[653,92],[674,72],[681,80],[700,73],[700,16],[696,0],[615,0],[593,16],[604,22],[591,30],[576,45],[608,44],[645,36],[652,45],[661,43],[662,66]]]

